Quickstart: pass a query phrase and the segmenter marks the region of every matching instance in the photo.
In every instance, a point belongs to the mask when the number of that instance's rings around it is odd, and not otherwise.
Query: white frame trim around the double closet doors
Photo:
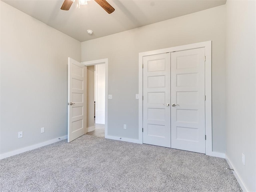
[[[164,48],[159,50],[139,53],[139,142],[143,143],[143,57],[167,52],[183,51],[196,48],[205,48],[205,134],[206,134],[206,155],[222,157],[222,154],[212,151],[212,41]]]

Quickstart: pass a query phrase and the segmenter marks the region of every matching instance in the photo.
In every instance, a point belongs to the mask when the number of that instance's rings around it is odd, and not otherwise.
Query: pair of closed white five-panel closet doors
[[[205,154],[205,48],[143,57],[143,143]]]

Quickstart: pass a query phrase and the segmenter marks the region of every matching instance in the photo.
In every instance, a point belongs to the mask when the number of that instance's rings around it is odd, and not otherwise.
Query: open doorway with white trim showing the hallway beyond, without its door
[[[108,59],[92,60],[82,64],[87,67],[86,134],[106,138],[108,135]]]

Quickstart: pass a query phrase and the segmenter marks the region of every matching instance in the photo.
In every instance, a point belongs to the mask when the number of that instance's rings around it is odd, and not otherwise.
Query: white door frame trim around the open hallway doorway
[[[84,66],[105,64],[105,138],[108,137],[108,58],[81,62]]]

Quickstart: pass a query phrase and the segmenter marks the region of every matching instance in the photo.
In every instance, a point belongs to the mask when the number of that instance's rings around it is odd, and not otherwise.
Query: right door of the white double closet
[[[205,154],[205,50],[171,53],[171,147]]]

